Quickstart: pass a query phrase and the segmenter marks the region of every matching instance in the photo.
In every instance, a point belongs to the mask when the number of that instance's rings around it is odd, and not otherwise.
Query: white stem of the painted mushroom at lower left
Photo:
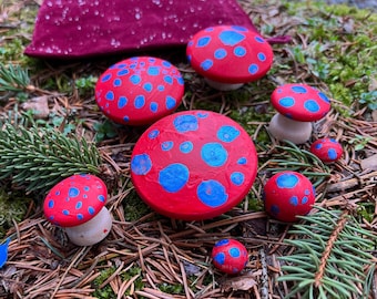
[[[110,233],[112,226],[112,218],[106,207],[103,207],[89,221],[67,227],[65,233],[70,240],[79,246],[91,246],[103,240]]]

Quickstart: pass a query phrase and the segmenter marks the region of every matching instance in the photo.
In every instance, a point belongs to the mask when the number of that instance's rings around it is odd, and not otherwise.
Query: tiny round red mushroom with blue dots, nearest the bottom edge
[[[235,239],[218,240],[212,249],[212,262],[225,274],[240,274],[246,266],[248,254],[245,246]]]

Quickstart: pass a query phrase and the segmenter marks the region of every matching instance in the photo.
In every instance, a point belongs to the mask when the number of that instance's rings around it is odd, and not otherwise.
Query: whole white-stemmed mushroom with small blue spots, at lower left
[[[90,246],[110,233],[112,218],[104,206],[108,188],[99,177],[72,175],[52,187],[43,210],[49,221],[65,228],[73,244]]]

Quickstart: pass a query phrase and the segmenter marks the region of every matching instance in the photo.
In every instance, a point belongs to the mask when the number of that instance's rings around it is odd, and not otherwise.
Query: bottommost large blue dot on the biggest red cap
[[[217,181],[202,182],[196,189],[198,199],[206,206],[216,208],[226,203],[228,195],[225,187]]]

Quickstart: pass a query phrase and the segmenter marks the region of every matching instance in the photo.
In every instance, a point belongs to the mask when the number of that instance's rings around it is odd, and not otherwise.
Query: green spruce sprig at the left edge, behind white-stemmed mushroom
[[[45,192],[73,174],[100,173],[94,145],[43,127],[4,123],[0,131],[0,179],[10,178],[27,192]]]

